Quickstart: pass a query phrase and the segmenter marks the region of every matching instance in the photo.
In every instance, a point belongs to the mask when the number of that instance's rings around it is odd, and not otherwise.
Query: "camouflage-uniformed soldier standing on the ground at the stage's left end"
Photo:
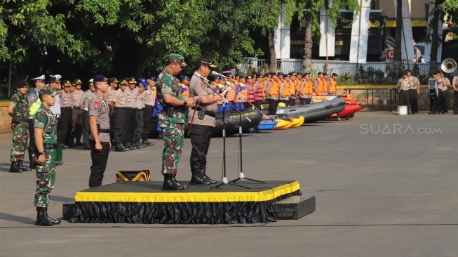
[[[55,103],[56,92],[53,87],[40,88],[41,106],[34,117],[36,157],[36,192],[35,206],[37,211],[35,225],[51,226],[60,223],[48,217],[48,204],[55,182],[55,154],[58,147],[58,121],[49,110]]]

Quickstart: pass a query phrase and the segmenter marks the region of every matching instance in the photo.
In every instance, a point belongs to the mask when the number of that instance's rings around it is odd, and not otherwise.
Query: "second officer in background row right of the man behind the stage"
[[[121,79],[119,81],[119,89],[114,93],[112,103],[110,104],[111,114],[114,117],[114,142],[116,147],[114,152],[126,152],[131,150],[130,148],[124,147],[124,138],[126,134],[123,132],[124,123],[126,122],[126,79]]]

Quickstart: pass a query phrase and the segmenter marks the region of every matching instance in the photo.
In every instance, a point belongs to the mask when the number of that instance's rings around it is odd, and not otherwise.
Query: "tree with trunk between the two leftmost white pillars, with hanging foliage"
[[[368,0],[365,0],[368,1]],[[290,25],[297,9],[297,19],[301,21],[305,29],[304,60],[302,61],[302,72],[311,71],[311,48],[313,40],[319,40],[320,34],[320,9],[323,4],[328,8],[332,27],[337,27],[337,17],[341,9],[347,8],[358,12],[358,0],[333,0],[329,6],[325,0],[288,0],[286,8],[286,24]]]

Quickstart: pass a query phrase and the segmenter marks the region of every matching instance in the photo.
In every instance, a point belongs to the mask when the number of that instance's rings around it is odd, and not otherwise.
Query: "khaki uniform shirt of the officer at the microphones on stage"
[[[200,79],[199,77],[193,74],[191,77],[191,81],[189,81],[189,97],[192,98],[194,96],[197,96],[199,93],[201,94],[201,96],[204,96],[204,95],[210,95],[210,97],[217,96],[215,91],[213,91],[211,88],[208,88],[208,86],[206,86],[206,84],[202,81],[202,79]],[[218,107],[217,103],[210,103],[208,105],[199,103],[198,105],[205,106],[206,110],[210,112],[216,112],[217,107]],[[191,120],[189,120],[189,122],[191,122]],[[198,119],[196,117],[193,123],[195,125],[204,125],[204,126],[215,126],[216,125],[215,118],[208,116],[208,115],[203,117],[203,119]]]

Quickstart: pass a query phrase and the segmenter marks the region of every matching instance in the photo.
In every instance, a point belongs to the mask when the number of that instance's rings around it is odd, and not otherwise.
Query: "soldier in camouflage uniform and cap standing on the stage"
[[[193,98],[183,97],[175,77],[181,72],[182,66],[186,65],[182,55],[170,54],[167,66],[157,80],[157,97],[163,105],[158,117],[164,140],[161,171],[164,176],[163,190],[182,190],[187,187],[175,179],[183,148],[184,112],[193,104]]]

